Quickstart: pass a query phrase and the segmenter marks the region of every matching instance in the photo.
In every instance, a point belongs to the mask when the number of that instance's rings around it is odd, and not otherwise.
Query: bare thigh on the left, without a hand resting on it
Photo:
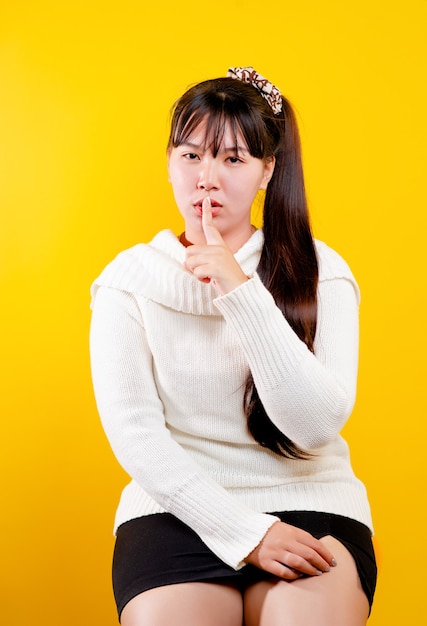
[[[242,626],[242,594],[215,583],[181,583],[144,591],[123,609],[122,626]]]

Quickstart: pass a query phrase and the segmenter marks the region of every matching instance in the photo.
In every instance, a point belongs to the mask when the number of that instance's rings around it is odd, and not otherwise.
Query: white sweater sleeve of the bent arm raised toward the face
[[[272,422],[307,450],[331,441],[356,396],[359,327],[353,282],[340,277],[319,283],[315,354],[258,275],[215,304],[239,339]]]

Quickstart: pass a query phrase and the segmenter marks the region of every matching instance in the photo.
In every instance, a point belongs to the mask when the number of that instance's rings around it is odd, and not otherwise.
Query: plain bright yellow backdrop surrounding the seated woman
[[[120,250],[180,231],[169,108],[253,65],[294,102],[317,237],[362,290],[346,426],[375,519],[370,624],[425,603],[427,2],[39,0],[0,7],[1,620],[113,626],[126,476],[99,425],[89,286]]]

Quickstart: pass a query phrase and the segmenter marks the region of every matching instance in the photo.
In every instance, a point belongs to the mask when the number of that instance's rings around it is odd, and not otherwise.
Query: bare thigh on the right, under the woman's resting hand
[[[338,565],[321,576],[249,587],[244,597],[245,626],[365,626],[369,603],[353,557],[333,537],[321,541]]]

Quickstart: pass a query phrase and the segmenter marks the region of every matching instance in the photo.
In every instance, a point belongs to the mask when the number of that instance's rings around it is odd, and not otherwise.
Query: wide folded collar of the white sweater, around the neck
[[[245,274],[256,271],[262,243],[262,230],[257,230],[234,255]],[[162,230],[150,243],[121,252],[107,265],[92,285],[92,297],[104,286],[144,296],[183,313],[219,316],[213,302],[217,291],[185,270],[184,260],[185,247],[171,230]]]

